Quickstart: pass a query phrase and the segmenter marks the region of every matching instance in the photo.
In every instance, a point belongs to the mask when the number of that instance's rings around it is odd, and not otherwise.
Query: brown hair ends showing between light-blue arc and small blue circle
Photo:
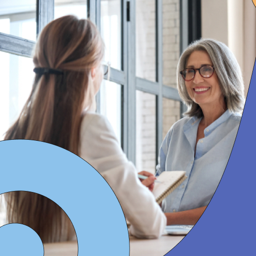
[[[69,241],[76,237],[66,212],[49,198],[29,191],[11,191],[4,197],[7,222],[32,228],[43,243]]]

